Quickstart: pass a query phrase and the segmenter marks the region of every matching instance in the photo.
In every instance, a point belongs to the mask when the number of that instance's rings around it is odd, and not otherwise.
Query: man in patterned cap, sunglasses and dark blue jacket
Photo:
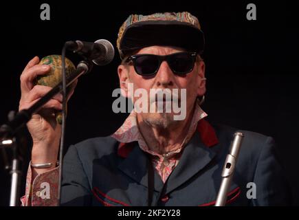
[[[147,96],[151,98],[144,105],[155,109],[162,104],[164,111],[132,111],[113,135],[71,146],[64,158],[61,204],[214,205],[225,157],[237,130],[210,125],[200,107],[206,78],[199,21],[188,12],[131,15],[120,28],[117,44],[122,58],[118,76],[123,96],[136,104],[137,89],[144,89],[146,94],[152,89],[177,89],[179,95],[170,99],[162,96],[160,100]],[[48,87],[32,85],[37,75],[49,71],[49,67],[37,63],[38,58],[34,58],[21,75],[19,109],[29,107],[49,91]],[[181,95],[184,91],[186,96]],[[175,120],[177,112],[165,111],[175,98],[186,109],[182,120]],[[60,126],[54,111],[61,109],[61,99],[55,96],[27,124],[34,144],[24,206],[57,203]],[[274,155],[274,140],[241,132],[245,137],[227,204],[289,204],[288,186]],[[48,197],[43,193],[45,183],[50,188]],[[247,193],[247,184],[254,186],[251,193]]]

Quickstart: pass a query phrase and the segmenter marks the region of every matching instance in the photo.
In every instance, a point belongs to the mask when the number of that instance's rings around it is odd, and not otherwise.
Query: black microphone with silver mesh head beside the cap
[[[114,48],[113,45],[104,39],[98,41],[67,41],[65,43],[67,50],[85,56],[96,65],[107,65],[113,60]]]

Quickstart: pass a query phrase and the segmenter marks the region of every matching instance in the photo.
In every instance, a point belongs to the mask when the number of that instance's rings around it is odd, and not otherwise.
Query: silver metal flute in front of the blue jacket
[[[226,199],[228,197],[228,190],[232,183],[232,176],[234,175],[234,168],[236,167],[236,159],[238,158],[242,140],[243,133],[234,133],[234,140],[230,146],[230,153],[226,156],[225,163],[223,166],[221,177],[221,186],[217,195],[217,200],[215,206],[225,206]]]

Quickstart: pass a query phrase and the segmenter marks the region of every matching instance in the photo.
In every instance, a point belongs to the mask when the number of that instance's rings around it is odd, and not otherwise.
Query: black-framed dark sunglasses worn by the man
[[[132,61],[135,72],[141,76],[151,76],[157,74],[163,61],[167,61],[174,74],[184,75],[192,71],[197,53],[179,52],[159,56],[155,54],[137,54],[126,58],[125,62]]]

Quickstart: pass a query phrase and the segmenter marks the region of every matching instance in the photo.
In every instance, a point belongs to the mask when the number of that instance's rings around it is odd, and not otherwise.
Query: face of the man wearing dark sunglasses
[[[137,54],[168,55],[177,52],[184,52],[184,50],[177,47],[152,46],[142,48]],[[170,89],[170,91],[178,89],[179,94],[181,89],[186,89],[186,118],[192,113],[197,96],[203,96],[206,92],[206,81],[203,80],[205,75],[205,65],[203,61],[196,61],[192,72],[183,76],[174,74],[166,61],[161,63],[157,74],[151,77],[138,75],[133,65],[120,65],[118,67],[118,75],[120,78],[120,86],[126,91],[125,96],[133,98],[134,103],[139,97],[133,97],[133,94],[130,94],[128,83],[133,83],[134,91],[140,88],[146,89],[148,93],[148,107],[152,104],[156,104],[156,102],[151,103],[149,100],[151,89]],[[181,100],[179,100],[179,104],[180,102]],[[137,118],[139,121],[146,122],[150,126],[166,128],[167,126],[180,122],[174,120],[173,115],[175,114],[177,113],[166,113],[165,111],[163,111],[163,113],[142,112],[138,113]]]

